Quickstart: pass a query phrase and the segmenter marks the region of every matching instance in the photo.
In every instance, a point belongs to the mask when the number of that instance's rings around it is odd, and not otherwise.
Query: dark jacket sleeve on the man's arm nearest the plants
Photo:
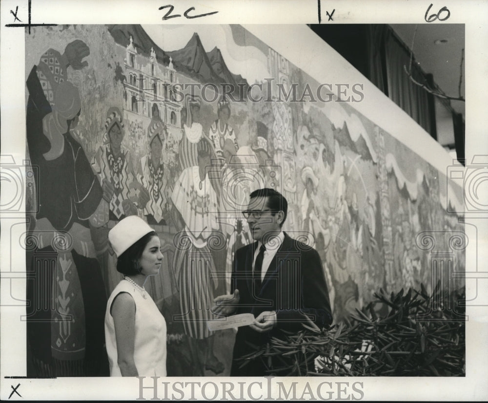
[[[332,323],[329,294],[325,283],[322,261],[315,249],[302,251],[298,275],[298,309],[277,310],[278,327],[289,331],[302,330],[302,323],[311,319],[320,328]],[[293,307],[294,308],[294,307]]]

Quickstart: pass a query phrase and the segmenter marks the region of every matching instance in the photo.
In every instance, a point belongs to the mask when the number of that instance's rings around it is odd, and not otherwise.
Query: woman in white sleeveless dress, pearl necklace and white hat
[[[166,322],[144,289],[163,262],[158,234],[136,215],[108,233],[123,279],[108,298],[105,339],[110,376],[166,376]]]

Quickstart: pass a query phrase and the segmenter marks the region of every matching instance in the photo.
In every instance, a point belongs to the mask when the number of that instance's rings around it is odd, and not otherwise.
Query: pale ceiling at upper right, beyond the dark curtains
[[[465,47],[464,24],[390,24],[398,37],[413,51],[415,60],[450,97],[459,97],[462,52]],[[417,32],[415,33],[415,30]],[[412,41],[415,34],[415,42]],[[437,40],[447,42],[436,44]],[[461,96],[465,97],[465,62],[462,69]],[[452,108],[465,117],[465,102],[451,100]]]

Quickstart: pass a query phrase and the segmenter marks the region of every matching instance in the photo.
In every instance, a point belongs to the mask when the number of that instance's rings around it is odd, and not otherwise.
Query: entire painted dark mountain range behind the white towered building
[[[171,57],[176,71],[203,84],[230,84],[236,88],[238,84],[244,84],[244,93],[248,83],[241,76],[233,74],[227,68],[219,48],[214,47],[210,52],[205,52],[198,34],[195,32],[183,49],[165,52],[146,34],[141,25],[108,25],[108,31],[115,42],[122,46],[132,42],[139,54],[149,56],[151,47],[156,53],[159,63],[167,66]]]

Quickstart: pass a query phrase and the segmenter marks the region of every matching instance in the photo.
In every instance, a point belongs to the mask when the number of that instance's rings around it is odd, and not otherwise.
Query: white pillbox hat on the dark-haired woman
[[[117,257],[134,245],[146,233],[154,231],[137,215],[129,215],[108,232],[108,240]]]

